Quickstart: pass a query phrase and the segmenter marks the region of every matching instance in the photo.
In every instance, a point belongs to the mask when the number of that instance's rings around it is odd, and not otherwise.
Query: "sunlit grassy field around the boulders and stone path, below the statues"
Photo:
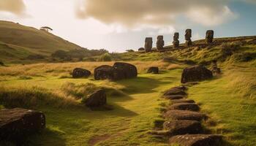
[[[189,99],[209,116],[203,126],[222,134],[226,146],[256,143],[256,37],[214,39],[206,45],[152,53],[110,53],[112,61],[11,64],[0,66],[0,108],[23,107],[45,113],[47,127],[29,137],[26,145],[167,145],[167,139],[148,134],[162,120],[168,101],[163,91],[180,85],[181,72],[192,64],[211,67],[217,60],[222,74],[189,88]],[[8,46],[5,46],[8,47]],[[96,56],[95,58],[98,58]],[[110,80],[73,79],[72,69],[91,72],[100,65],[126,61],[138,68],[138,77]],[[159,66],[160,74],[147,74]],[[109,111],[91,111],[81,98],[99,88],[108,94]],[[1,143],[0,143],[1,145]]]

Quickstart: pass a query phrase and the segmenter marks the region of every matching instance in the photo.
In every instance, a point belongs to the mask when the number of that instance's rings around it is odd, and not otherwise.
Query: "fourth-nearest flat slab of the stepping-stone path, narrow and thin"
[[[181,102],[178,104],[173,104],[170,107],[168,107],[169,110],[190,110],[190,111],[199,111],[200,107],[197,104],[194,103],[185,103]]]

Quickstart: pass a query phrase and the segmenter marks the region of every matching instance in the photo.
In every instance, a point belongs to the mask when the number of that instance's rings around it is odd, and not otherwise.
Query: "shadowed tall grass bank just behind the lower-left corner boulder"
[[[49,91],[46,88],[11,88],[0,87],[0,104],[4,107],[37,108],[40,106],[50,107],[75,107],[78,106],[71,96],[66,96],[61,91]]]

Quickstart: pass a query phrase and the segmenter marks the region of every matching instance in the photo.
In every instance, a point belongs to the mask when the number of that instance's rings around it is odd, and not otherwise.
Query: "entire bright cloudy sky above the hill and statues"
[[[256,35],[256,0],[0,0],[0,20],[49,26],[51,33],[89,49],[137,50],[146,37],[192,28],[192,40]]]

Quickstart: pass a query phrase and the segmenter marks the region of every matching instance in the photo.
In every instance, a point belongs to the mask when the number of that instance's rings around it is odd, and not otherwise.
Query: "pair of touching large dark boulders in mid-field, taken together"
[[[116,62],[113,66],[99,66],[94,69],[95,80],[122,80],[137,77],[138,71],[132,64]]]

